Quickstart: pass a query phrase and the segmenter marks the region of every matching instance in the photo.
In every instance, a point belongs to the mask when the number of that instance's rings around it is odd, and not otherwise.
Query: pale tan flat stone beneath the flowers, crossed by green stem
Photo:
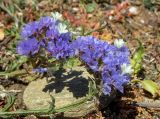
[[[74,68],[66,72],[57,72],[54,80],[47,83],[47,80],[39,79],[32,81],[24,91],[23,100],[28,109],[46,109],[49,107],[52,95],[55,98],[55,107],[61,108],[82,100],[88,93],[88,80],[93,77],[85,68]],[[99,102],[107,106],[115,98],[115,95],[102,97]],[[101,107],[103,107],[101,105]],[[97,109],[95,100],[64,112],[64,117],[82,117]]]

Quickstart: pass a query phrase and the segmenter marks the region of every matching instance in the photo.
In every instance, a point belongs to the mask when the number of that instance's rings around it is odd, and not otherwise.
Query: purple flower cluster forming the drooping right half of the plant
[[[123,64],[130,64],[127,47],[118,48],[92,36],[79,37],[73,47],[80,59],[101,75],[104,94],[110,94],[112,87],[123,92],[123,85],[130,81],[129,74],[121,69]]]

